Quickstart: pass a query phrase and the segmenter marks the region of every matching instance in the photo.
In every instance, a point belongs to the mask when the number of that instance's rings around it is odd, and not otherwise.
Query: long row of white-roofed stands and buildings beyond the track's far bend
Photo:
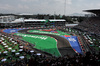
[[[65,22],[64,19],[14,19],[14,16],[1,16],[0,28],[65,26]]]

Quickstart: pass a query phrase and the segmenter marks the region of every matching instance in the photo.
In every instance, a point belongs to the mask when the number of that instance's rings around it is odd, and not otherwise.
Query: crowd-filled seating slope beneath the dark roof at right
[[[100,17],[91,17],[80,23],[75,28],[81,29],[83,31],[88,31],[93,34],[100,34]]]

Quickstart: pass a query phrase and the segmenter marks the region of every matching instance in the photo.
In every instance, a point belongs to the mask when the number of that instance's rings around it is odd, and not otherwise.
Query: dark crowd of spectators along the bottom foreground
[[[29,59],[16,60],[4,66],[100,66],[100,55],[87,52],[85,56],[79,54],[74,57],[66,55],[64,57],[31,56]]]

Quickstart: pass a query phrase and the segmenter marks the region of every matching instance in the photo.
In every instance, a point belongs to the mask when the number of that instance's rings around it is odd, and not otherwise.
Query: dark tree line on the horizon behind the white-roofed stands
[[[73,23],[74,21],[82,22],[85,16],[65,16],[65,15],[50,15],[50,14],[36,14],[36,15],[16,15],[16,14],[0,14],[0,16],[14,15],[17,18],[34,18],[34,19],[65,19],[68,23]],[[46,17],[46,18],[45,18]]]

